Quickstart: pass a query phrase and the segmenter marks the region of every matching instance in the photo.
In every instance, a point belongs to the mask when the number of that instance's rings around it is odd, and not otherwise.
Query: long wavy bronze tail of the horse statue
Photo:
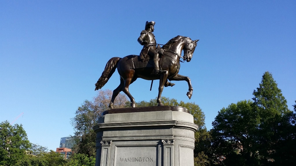
[[[121,59],[120,57],[113,57],[107,62],[101,77],[99,78],[99,80],[95,84],[96,85],[95,90],[101,89],[107,83],[109,78],[115,72],[115,69],[117,67],[117,62],[120,59]]]

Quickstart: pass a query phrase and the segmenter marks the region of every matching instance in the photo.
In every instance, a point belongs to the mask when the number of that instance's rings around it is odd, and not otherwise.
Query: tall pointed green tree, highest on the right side
[[[258,141],[262,164],[281,164],[286,160],[291,161],[281,152],[284,147],[287,149],[290,147],[286,143],[293,134],[291,128],[294,113],[288,109],[287,101],[277,85],[272,74],[265,72],[259,88],[253,92],[254,105],[260,116]]]

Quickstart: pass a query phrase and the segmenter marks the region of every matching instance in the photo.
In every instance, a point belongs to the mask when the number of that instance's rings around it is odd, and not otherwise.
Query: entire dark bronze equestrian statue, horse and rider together
[[[95,90],[101,89],[117,69],[120,75],[120,84],[113,91],[109,108],[113,109],[115,97],[121,91],[123,91],[130,98],[131,107],[136,107],[135,99],[129,92],[129,86],[134,81],[136,81],[137,78],[152,81],[159,80],[157,97],[158,106],[163,106],[161,102],[161,93],[163,87],[175,85],[171,84],[167,80],[187,81],[189,90],[187,92],[187,96],[189,99],[191,98],[193,88],[190,78],[187,76],[182,76],[178,73],[180,69],[180,59],[187,62],[191,61],[197,41],[199,40],[191,40],[188,37],[176,36],[175,38],[172,38],[170,41],[168,41],[167,44],[160,47],[156,43],[155,36],[153,34],[154,25],[155,22],[153,21],[146,22],[145,30],[142,30],[140,33],[138,42],[143,45],[140,55],[128,55],[123,58],[111,58],[107,62],[101,77],[95,84]],[[156,45],[158,45],[158,47],[156,47]],[[181,56],[182,51],[184,53],[183,57]],[[151,64],[153,65],[147,65],[147,62],[144,63],[147,57],[149,57],[148,59],[151,59],[150,61],[152,61]],[[138,85],[137,88],[140,91],[143,89],[142,85]]]

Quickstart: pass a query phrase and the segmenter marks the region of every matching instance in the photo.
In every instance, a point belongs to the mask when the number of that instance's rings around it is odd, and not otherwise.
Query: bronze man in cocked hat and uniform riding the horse
[[[143,49],[140,53],[140,59],[144,61],[144,58],[148,55],[153,57],[154,73],[159,75],[159,54],[155,51],[156,49],[156,40],[153,34],[155,22],[146,21],[145,30],[142,30],[138,42],[143,45]]]

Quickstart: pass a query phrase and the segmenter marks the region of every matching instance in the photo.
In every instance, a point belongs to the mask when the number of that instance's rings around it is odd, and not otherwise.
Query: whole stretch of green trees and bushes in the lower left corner
[[[0,165],[1,166],[64,166],[66,161],[47,147],[31,144],[22,125],[0,124]]]

